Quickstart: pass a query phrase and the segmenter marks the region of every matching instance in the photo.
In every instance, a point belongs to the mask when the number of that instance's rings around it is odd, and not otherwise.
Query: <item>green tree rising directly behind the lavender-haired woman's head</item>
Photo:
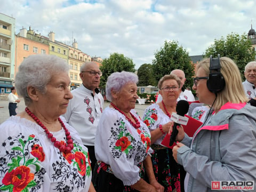
[[[129,71],[135,72],[135,64],[132,59],[124,57],[124,54],[112,53],[109,58],[103,59],[100,70],[102,76],[100,78],[100,87],[105,88],[108,76],[115,72]]]

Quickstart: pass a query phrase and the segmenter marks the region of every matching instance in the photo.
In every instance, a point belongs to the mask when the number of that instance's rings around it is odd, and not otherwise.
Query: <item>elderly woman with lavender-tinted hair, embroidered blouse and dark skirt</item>
[[[138,76],[126,71],[108,77],[106,96],[111,103],[102,113],[95,137],[98,162],[93,185],[98,192],[164,191],[153,173],[150,132],[134,110],[137,83]]]

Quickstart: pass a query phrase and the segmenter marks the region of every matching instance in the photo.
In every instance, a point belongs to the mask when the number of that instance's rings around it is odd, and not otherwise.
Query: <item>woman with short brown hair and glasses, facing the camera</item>
[[[163,100],[149,106],[142,117],[151,133],[151,156],[157,181],[164,186],[164,191],[180,191],[179,164],[174,161],[172,150],[161,145],[173,122],[171,114],[176,113],[177,99],[180,94],[180,79],[176,75],[165,75],[158,82],[159,94]]]

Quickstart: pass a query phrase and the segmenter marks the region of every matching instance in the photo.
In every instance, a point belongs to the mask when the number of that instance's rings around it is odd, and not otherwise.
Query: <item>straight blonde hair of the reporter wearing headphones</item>
[[[223,106],[227,102],[231,103],[240,103],[247,102],[249,99],[246,97],[241,74],[239,72],[236,63],[227,57],[220,58],[220,73],[225,79],[225,87],[222,91],[217,93],[217,99],[214,102],[213,108],[214,110],[219,110],[221,106]],[[202,68],[206,75],[210,74],[210,59],[204,59],[196,66],[196,70]]]

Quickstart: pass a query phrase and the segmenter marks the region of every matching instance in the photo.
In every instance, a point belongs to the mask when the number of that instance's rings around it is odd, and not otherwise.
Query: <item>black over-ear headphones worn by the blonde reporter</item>
[[[223,78],[222,74],[220,73],[220,54],[218,54],[218,58],[212,58],[210,56],[210,74],[209,78],[207,79],[207,88],[209,91],[213,93],[218,93],[225,87],[225,79]],[[212,71],[214,70],[214,71]]]

